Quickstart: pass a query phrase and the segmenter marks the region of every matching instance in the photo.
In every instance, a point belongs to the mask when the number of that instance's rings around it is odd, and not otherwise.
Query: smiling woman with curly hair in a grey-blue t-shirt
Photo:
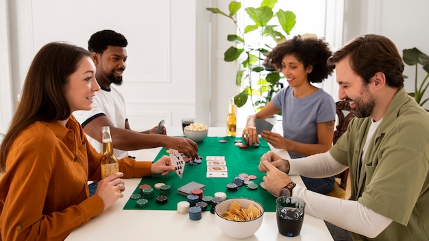
[[[313,86],[321,83],[334,68],[326,61],[332,55],[321,38],[295,36],[279,43],[268,53],[265,64],[281,71],[289,86],[280,90],[265,107],[247,119],[243,140],[259,143],[255,119],[266,119],[282,111],[283,136],[262,131],[261,137],[276,149],[288,151],[292,158],[324,153],[332,147],[335,102],[330,94]],[[326,194],[334,187],[334,177],[302,177],[309,190]]]

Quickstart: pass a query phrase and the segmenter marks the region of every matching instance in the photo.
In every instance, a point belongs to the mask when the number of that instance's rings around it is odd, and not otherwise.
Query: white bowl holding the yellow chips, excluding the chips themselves
[[[233,221],[220,216],[219,214],[228,211],[233,201],[240,203],[243,208],[246,209],[249,207],[250,204],[253,204],[255,207],[258,207],[260,209],[260,216],[248,221]],[[224,201],[218,203],[215,207],[215,220],[217,226],[223,231],[223,233],[225,233],[226,236],[229,236],[231,238],[243,239],[254,235],[254,233],[256,233],[256,231],[258,231],[258,229],[260,228],[263,218],[264,208],[262,207],[262,205],[260,205],[260,203],[252,199],[225,199]]]

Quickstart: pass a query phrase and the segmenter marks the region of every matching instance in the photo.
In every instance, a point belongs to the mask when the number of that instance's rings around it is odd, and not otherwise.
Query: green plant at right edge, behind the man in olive
[[[402,60],[404,60],[405,64],[410,66],[415,66],[415,79],[414,79],[414,92],[408,93],[411,97],[414,97],[415,101],[419,103],[419,105],[423,106],[426,101],[429,100],[429,97],[424,99],[424,93],[429,86],[429,56],[426,53],[422,53],[417,48],[413,49],[404,49],[402,51]],[[423,66],[424,71],[426,71],[426,76],[419,83],[419,65]],[[404,78],[408,78],[404,75]]]

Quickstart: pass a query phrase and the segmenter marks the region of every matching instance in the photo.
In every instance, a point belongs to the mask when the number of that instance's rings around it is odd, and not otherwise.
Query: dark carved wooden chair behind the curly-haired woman
[[[334,131],[334,140],[332,143],[335,144],[341,135],[347,130],[352,118],[354,118],[353,112],[350,110],[348,101],[337,101],[336,103],[336,116],[338,117],[336,129]],[[347,188],[347,177],[349,175],[349,168],[345,169],[342,173],[336,175],[340,181],[335,181],[334,189],[328,193],[329,196],[336,196],[345,199],[345,188]]]

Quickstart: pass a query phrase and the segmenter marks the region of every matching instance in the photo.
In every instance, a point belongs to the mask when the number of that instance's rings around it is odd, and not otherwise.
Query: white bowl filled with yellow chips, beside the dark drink
[[[252,199],[225,199],[215,207],[217,226],[230,238],[248,238],[262,224],[264,208]]]

